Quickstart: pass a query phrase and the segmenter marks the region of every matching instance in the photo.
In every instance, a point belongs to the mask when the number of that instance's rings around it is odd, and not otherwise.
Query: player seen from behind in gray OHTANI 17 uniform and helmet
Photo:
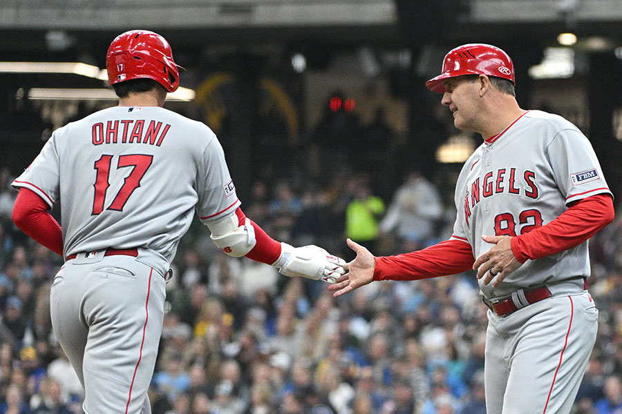
[[[120,34],[106,67],[119,105],[53,133],[12,184],[13,219],[66,259],[52,324],[84,385],[84,411],[151,413],[164,285],[193,210],[220,250],[283,275],[331,282],[343,261],[276,242],[245,217],[214,132],[162,108],[180,72],[162,36]],[[59,199],[62,226],[48,213]]]

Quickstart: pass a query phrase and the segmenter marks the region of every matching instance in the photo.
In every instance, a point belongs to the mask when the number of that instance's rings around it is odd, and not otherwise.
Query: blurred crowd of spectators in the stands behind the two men
[[[10,220],[0,172],[0,414],[82,413],[82,387],[59,348],[49,291],[62,259]],[[248,217],[276,239],[352,259],[451,235],[455,210],[406,171],[391,199],[365,174],[326,186],[257,182]],[[622,219],[590,241],[599,335],[576,414],[622,410]],[[487,308],[474,273],[376,282],[334,299],[324,282],[221,253],[198,221],[182,239],[149,392],[154,414],[483,414]],[[543,344],[544,346],[544,344]]]

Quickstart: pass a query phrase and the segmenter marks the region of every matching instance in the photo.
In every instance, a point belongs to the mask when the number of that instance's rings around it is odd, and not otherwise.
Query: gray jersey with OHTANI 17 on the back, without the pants
[[[148,248],[164,271],[196,208],[240,205],[222,147],[205,124],[160,107],[115,106],[56,130],[13,186],[62,200],[65,256]]]

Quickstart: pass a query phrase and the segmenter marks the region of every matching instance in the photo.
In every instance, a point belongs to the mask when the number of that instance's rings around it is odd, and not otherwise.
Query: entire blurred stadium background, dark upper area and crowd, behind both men
[[[462,43],[506,50],[520,105],[590,137],[619,210],[621,23],[613,0],[3,1],[0,400],[80,412],[49,323],[61,263],[12,225],[8,184],[55,128],[115,105],[100,93],[101,69],[120,32],[169,40],[187,72],[166,106],[215,130],[249,217],[276,238],[351,259],[346,235],[389,255],[451,231],[455,176],[481,138],[456,130],[424,81]],[[420,213],[433,226],[404,235],[388,224],[400,189],[415,215],[437,197],[441,213]],[[361,205],[375,214],[353,218]],[[350,228],[355,219],[369,231]],[[618,218],[590,242],[601,326],[577,413],[622,404],[621,233]],[[473,274],[334,300],[321,283],[218,253],[198,221],[173,268],[156,414],[484,412],[486,308]]]

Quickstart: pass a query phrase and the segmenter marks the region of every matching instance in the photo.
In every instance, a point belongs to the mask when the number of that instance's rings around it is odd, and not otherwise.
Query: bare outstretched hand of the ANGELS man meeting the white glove
[[[350,263],[343,265],[346,274],[337,279],[337,283],[328,286],[334,297],[345,295],[356,288],[370,284],[374,279],[376,259],[369,250],[352,240],[347,239],[348,247],[357,253]]]

